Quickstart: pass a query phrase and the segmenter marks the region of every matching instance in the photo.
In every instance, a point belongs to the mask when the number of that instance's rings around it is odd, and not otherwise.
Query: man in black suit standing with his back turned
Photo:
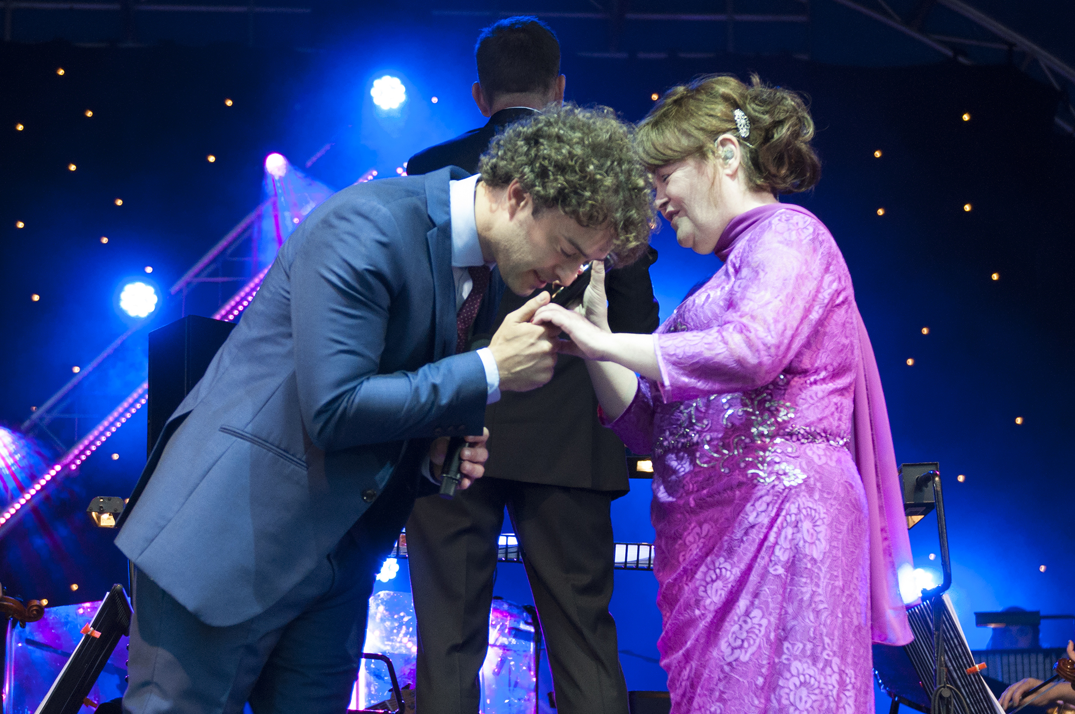
[[[474,102],[490,117],[481,129],[417,154],[407,172],[455,165],[478,169],[498,130],[539,116],[563,100],[560,47],[533,17],[511,17],[483,31],[475,51]],[[608,273],[608,314],[617,332],[653,332],[657,303],[649,281],[656,252]],[[498,319],[522,304],[503,294]],[[485,660],[497,541],[506,505],[564,714],[627,714],[613,590],[610,505],[627,492],[624,444],[597,417],[582,360],[561,356],[553,381],[504,395],[486,409],[486,475],[453,501],[422,498],[407,522],[407,553],[418,619],[418,708],[422,714],[476,714]]]

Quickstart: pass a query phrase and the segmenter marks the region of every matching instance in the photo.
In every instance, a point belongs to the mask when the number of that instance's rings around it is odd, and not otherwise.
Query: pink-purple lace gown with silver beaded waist
[[[786,204],[736,217],[717,254],[723,268],[656,332],[662,381],[640,380],[610,424],[654,455],[672,712],[873,712],[847,266]]]

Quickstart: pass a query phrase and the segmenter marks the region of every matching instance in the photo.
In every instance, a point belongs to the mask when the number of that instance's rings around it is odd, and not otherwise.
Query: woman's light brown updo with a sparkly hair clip
[[[734,111],[750,122],[741,137]],[[669,89],[639,125],[635,144],[650,168],[689,156],[713,158],[721,134],[742,147],[747,185],[774,195],[803,191],[821,177],[821,162],[811,146],[814,120],[794,91],[770,87],[757,74],[750,86],[727,74],[710,74]]]

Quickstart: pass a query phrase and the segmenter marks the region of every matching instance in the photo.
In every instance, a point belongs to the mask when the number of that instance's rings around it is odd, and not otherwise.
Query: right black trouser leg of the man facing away
[[[541,618],[559,714],[627,714],[613,590],[612,495],[513,484],[507,511]]]

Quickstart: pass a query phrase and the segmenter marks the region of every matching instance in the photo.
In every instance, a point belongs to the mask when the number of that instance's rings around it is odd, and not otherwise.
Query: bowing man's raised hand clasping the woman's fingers
[[[500,370],[501,391],[529,391],[553,379],[556,367],[556,348],[553,338],[557,327],[539,327],[530,324],[538,309],[548,302],[548,292],[542,291],[504,318],[492,335],[489,349]]]

